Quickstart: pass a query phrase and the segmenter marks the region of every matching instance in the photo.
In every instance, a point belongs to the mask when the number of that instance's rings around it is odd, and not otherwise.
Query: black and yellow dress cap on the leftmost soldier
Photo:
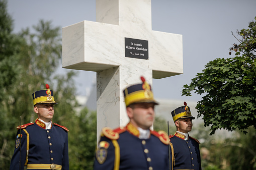
[[[46,87],[45,90],[39,90],[32,94],[34,105],[38,103],[58,104],[54,101],[53,91],[50,90],[50,86],[46,84],[45,87]]]

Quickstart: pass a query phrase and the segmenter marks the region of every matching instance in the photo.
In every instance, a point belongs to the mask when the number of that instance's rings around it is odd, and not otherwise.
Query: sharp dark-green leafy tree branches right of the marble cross
[[[191,91],[204,94],[196,109],[204,125],[211,126],[210,134],[221,128],[244,133],[249,126],[256,129],[256,22],[237,33],[240,44],[230,48],[236,56],[210,61],[182,90],[185,96],[191,96]]]

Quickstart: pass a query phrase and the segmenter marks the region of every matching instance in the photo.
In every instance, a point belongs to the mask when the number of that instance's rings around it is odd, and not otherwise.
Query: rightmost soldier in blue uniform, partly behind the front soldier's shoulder
[[[200,142],[188,133],[192,130],[192,120],[195,117],[191,115],[186,102],[184,105],[172,111],[177,128],[174,135],[169,135],[172,169],[201,170]]]

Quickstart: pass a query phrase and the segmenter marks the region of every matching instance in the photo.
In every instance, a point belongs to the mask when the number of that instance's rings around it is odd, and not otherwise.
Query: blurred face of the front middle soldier
[[[136,103],[132,108],[127,107],[127,114],[133,125],[149,129],[154,122],[154,103]]]

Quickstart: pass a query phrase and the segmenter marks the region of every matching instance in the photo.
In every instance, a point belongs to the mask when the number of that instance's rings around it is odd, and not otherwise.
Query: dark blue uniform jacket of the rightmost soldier
[[[177,132],[169,137],[173,169],[201,170],[200,142],[190,136],[188,140],[184,140],[185,135]]]

